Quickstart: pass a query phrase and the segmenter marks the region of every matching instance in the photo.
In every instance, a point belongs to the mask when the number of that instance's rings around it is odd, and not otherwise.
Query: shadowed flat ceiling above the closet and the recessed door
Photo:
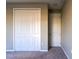
[[[61,9],[64,0],[6,0],[7,3],[47,3],[49,9]]]

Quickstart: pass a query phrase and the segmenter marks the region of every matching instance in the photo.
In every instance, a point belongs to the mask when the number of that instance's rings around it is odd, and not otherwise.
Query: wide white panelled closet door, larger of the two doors
[[[15,51],[40,51],[41,9],[13,9],[13,39]]]

